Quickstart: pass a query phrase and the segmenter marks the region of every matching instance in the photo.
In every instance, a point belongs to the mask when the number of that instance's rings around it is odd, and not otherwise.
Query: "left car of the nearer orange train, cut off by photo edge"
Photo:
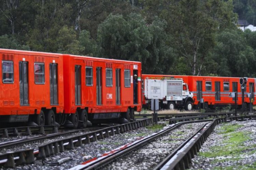
[[[0,60],[0,122],[62,121],[61,54],[0,49]]]

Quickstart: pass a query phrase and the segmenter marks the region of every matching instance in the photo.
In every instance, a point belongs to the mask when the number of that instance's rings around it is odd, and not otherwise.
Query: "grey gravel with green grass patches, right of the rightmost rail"
[[[256,120],[217,125],[190,169],[256,169]]]

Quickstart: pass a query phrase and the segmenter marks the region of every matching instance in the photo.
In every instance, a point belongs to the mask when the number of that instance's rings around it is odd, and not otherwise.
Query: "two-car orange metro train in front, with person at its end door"
[[[0,122],[76,129],[129,121],[141,110],[140,62],[8,49],[0,60]]]

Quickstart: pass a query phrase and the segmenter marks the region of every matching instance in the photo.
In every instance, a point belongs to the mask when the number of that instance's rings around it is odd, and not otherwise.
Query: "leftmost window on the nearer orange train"
[[[2,81],[3,83],[13,83],[13,62],[2,61]]]

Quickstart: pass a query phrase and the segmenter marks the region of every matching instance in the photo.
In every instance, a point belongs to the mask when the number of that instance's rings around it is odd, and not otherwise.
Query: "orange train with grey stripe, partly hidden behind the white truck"
[[[142,84],[148,78],[172,77],[182,78],[184,83],[188,84],[188,89],[193,93],[194,108],[200,108],[200,99],[203,99],[204,109],[225,107],[234,105],[234,98],[230,97],[231,92],[237,92],[237,104],[242,107],[242,86],[239,83],[240,78],[232,77],[210,77],[210,76],[193,76],[193,75],[154,75],[142,74]],[[245,86],[244,107],[250,107],[250,98],[246,93],[252,94],[252,104],[256,105],[256,79],[248,78]],[[142,104],[146,105],[144,97],[144,87],[142,87]],[[202,105],[201,105],[202,106]]]

